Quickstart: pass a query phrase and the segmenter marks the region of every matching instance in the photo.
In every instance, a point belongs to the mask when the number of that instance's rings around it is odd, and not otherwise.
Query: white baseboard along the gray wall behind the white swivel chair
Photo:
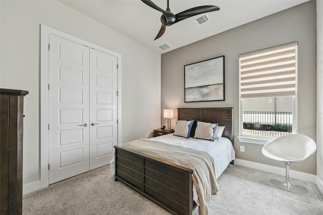
[[[255,163],[255,162],[250,162],[248,160],[235,159],[234,164],[235,165],[241,165],[241,166],[244,166],[244,167],[253,168],[253,169],[256,169],[256,170],[262,170],[262,171],[265,171],[265,172],[275,173],[275,174],[279,174],[279,175],[282,175],[282,176],[286,175],[285,168],[274,167],[274,166],[265,165],[265,164],[259,164],[259,163]],[[294,178],[294,179],[299,179],[299,180],[308,181],[308,182],[312,182],[312,183],[316,183],[316,181],[317,181],[317,177],[315,175],[308,174],[308,173],[297,172],[297,171],[294,171],[294,170],[289,171],[289,176],[291,178]],[[316,181],[315,181],[315,178],[316,178]]]

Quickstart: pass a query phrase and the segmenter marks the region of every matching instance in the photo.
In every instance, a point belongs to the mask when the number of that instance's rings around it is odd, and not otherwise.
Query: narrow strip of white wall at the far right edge
[[[323,1],[316,1],[316,184],[323,192]]]

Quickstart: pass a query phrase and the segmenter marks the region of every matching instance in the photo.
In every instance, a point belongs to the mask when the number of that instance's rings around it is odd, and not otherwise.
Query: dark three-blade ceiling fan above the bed
[[[171,12],[171,9],[169,7],[169,0],[167,0],[166,11],[164,11],[163,9],[156,6],[150,0],[141,0],[141,2],[145,3],[146,5],[148,5],[149,7],[153,8],[153,9],[163,13],[163,15],[161,15],[161,17],[160,17],[161,27],[160,27],[160,30],[154,40],[158,39],[159,37],[161,37],[164,34],[164,32],[166,30],[166,26],[171,26],[179,21],[182,21],[184,19],[190,18],[190,17],[198,15],[198,14],[220,10],[220,8],[217,6],[199,6],[199,7],[191,8],[191,9],[188,9],[186,11],[183,11],[181,13],[174,15]]]

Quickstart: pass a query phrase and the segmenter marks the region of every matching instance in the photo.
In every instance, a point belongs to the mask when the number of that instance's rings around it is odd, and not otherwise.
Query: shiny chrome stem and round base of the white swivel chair
[[[290,183],[289,181],[289,165],[292,162],[285,162],[286,165],[286,178],[285,178],[285,182],[279,179],[271,179],[271,182],[273,184],[275,184],[276,186],[284,189],[284,190],[288,190],[294,193],[306,193],[307,189],[306,187],[302,186],[301,184],[297,183],[297,182],[293,182],[293,184]]]

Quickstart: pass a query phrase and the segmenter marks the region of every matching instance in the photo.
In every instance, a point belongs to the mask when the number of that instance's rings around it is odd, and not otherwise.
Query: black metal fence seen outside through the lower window
[[[293,132],[292,112],[243,112],[243,134],[281,137]]]

